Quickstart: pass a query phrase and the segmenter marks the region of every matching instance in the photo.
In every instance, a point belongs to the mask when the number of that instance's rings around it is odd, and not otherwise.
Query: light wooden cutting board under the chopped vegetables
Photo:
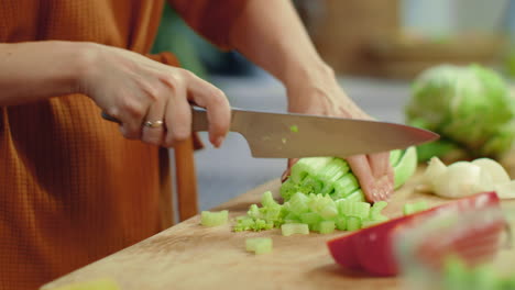
[[[447,202],[435,196],[414,191],[423,168],[399,189],[385,214],[401,215],[406,202],[427,200],[429,204]],[[512,171],[512,178],[513,178]],[[277,194],[278,180],[272,180],[213,210],[229,210],[242,215],[261,194]],[[513,203],[512,201],[509,201]],[[231,222],[232,224],[232,222]],[[116,280],[121,289],[402,289],[399,278],[373,278],[346,272],[331,258],[326,242],[344,232],[284,237],[278,230],[261,233],[233,233],[230,225],[204,227],[194,216],[127,249],[88,265],[43,289],[98,278]],[[270,236],[273,253],[254,255],[245,252],[245,238]],[[515,263],[515,261],[511,261]],[[514,265],[511,265],[513,267]]]

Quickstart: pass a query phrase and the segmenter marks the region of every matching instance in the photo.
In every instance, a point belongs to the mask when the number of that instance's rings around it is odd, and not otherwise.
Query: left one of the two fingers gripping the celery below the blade
[[[355,155],[347,158],[352,172],[358,178],[360,187],[369,201],[381,200],[381,192],[375,188],[375,178],[372,175],[369,159],[365,155]]]

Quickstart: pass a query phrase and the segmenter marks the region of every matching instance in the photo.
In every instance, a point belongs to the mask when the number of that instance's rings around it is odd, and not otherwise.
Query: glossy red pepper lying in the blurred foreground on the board
[[[397,231],[402,231],[406,226],[413,226],[421,220],[434,216],[441,211],[467,211],[486,208],[501,210],[498,197],[495,192],[479,193],[448,202],[426,211],[390,220],[387,222],[333,238],[329,241],[327,245],[333,259],[347,269],[364,270],[375,276],[395,276],[398,274],[398,266],[394,256],[393,237]],[[503,226],[504,224],[497,223],[494,227],[481,230],[484,232],[476,231],[463,235],[456,241],[454,246],[458,247],[460,243],[462,243],[463,245],[461,245],[460,248],[462,248],[464,255],[467,255],[467,245],[472,245],[471,243],[468,244],[468,241],[473,242],[473,238],[478,239],[481,236],[484,237],[485,233],[489,234],[486,236],[497,237]],[[483,239],[487,242],[485,245],[492,245],[492,241],[494,241],[493,238]],[[438,250],[443,250],[435,247],[431,248],[430,243],[427,244],[427,250],[424,250],[426,254],[431,252],[432,254],[437,254]],[[493,247],[485,247],[483,249],[491,250],[492,248]],[[424,256],[424,254],[420,255]]]

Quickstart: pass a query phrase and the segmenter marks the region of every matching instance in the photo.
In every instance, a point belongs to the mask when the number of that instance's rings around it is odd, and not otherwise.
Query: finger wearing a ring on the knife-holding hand
[[[169,99],[171,90],[161,86],[155,92],[155,102],[149,108],[149,112],[143,122],[142,141],[153,145],[161,145],[165,136],[164,115],[166,110],[166,100]],[[150,125],[146,125],[150,122]],[[161,122],[161,125],[158,124]],[[152,125],[154,124],[154,125]]]

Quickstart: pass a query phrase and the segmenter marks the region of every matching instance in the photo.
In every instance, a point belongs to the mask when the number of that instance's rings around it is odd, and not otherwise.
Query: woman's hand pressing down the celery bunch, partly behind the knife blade
[[[338,85],[331,69],[326,68],[307,81],[287,83],[288,111],[296,113],[372,119],[364,113]],[[346,146],[342,144],[342,146]],[[387,200],[394,190],[390,153],[358,155],[346,158],[369,201]],[[296,160],[288,160],[288,169]]]

